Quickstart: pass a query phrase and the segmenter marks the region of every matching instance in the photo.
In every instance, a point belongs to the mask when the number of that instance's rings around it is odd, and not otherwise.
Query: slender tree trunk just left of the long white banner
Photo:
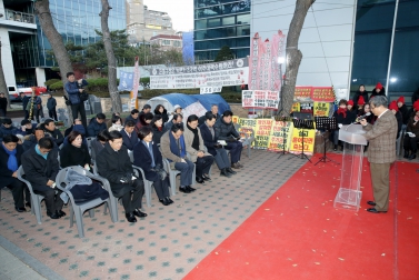
[[[108,88],[109,94],[112,102],[113,112],[122,112],[121,97],[119,96],[117,88],[117,60],[114,58],[112,41],[110,38],[110,31],[108,26],[109,10],[112,9],[109,7],[108,0],[101,0],[102,11],[100,12],[100,23],[102,27],[102,40],[104,44],[104,51],[107,52],[108,58]]]

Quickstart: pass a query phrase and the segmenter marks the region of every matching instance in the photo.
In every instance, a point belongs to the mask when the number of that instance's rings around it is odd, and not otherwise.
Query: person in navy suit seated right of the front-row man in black
[[[144,171],[146,180],[152,181],[159,201],[163,206],[173,203],[169,194],[169,178],[163,169],[159,148],[152,142],[151,128],[142,127],[138,132],[141,140],[133,147],[133,164]]]

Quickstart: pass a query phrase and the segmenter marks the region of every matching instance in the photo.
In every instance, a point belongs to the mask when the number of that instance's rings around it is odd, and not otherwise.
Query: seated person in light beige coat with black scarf
[[[186,150],[189,153],[190,160],[196,164],[197,182],[203,183],[203,181],[211,180],[208,177],[208,173],[212,166],[213,158],[206,151],[201,131],[198,128],[197,114],[191,114],[188,117],[183,138]]]

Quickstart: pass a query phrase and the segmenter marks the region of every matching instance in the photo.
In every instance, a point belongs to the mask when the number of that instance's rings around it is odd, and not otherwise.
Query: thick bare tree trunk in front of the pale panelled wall
[[[289,117],[293,103],[293,93],[296,91],[296,82],[298,69],[301,63],[302,53],[298,49],[298,40],[300,38],[301,29],[306,20],[307,11],[316,0],[297,0],[296,11],[290,23],[290,28],[287,36],[287,69],[286,79],[282,87],[282,100],[280,108],[282,111],[279,113],[285,117]]]

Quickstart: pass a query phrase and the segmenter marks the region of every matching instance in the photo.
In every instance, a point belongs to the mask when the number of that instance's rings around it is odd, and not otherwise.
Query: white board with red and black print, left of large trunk
[[[278,109],[279,92],[269,90],[243,90],[241,106],[243,108]]]

